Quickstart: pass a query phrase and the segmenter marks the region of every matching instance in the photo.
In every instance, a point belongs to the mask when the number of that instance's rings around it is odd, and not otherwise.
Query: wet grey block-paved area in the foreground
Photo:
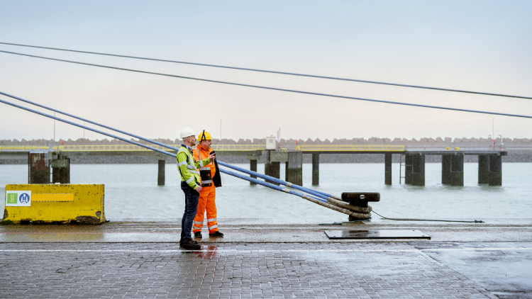
[[[497,298],[411,244],[2,243],[0,298]]]

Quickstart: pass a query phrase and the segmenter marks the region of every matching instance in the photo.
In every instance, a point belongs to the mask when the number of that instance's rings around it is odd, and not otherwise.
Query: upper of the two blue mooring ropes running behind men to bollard
[[[70,116],[71,118],[76,118],[76,119],[79,119],[79,120],[83,120],[83,121],[85,121],[85,122],[87,122],[87,123],[92,123],[92,124],[94,124],[94,125],[99,125],[100,127],[103,127],[103,128],[109,129],[109,130],[113,130],[113,131],[116,131],[116,132],[120,132],[120,133],[122,133],[122,134],[129,135],[129,136],[131,136],[131,137],[138,138],[139,140],[144,140],[144,141],[147,141],[147,142],[152,142],[152,143],[154,143],[155,145],[160,145],[160,146],[162,146],[162,147],[167,147],[167,148],[170,149],[170,150],[175,150],[175,151],[178,151],[178,150],[179,150],[179,149],[176,148],[176,147],[172,147],[172,146],[170,146],[170,145],[165,145],[165,144],[162,143],[162,142],[157,142],[157,141],[155,141],[155,140],[150,140],[150,139],[148,139],[148,138],[144,138],[144,137],[141,137],[141,136],[138,136],[138,135],[134,135],[134,134],[129,133],[129,132],[124,132],[124,131],[122,131],[122,130],[118,130],[118,129],[115,129],[115,128],[111,128],[111,127],[108,127],[108,126],[106,126],[106,125],[102,125],[101,123],[95,123],[95,122],[93,122],[92,120],[87,120],[87,119],[85,119],[85,118],[80,118],[80,117],[78,117],[78,116],[76,116],[76,115],[72,115],[72,114],[70,114],[70,113],[66,113],[66,112],[63,112],[63,111],[59,111],[59,110],[57,110],[57,109],[50,108],[50,107],[48,107],[48,106],[40,105],[39,103],[35,103],[35,102],[32,102],[32,101],[28,101],[28,100],[26,100],[26,99],[24,99],[24,98],[19,98],[18,96],[13,96],[13,95],[11,95],[11,94],[6,94],[6,93],[3,92],[3,91],[0,91],[0,94],[3,94],[4,96],[9,96],[10,98],[15,98],[16,100],[18,100],[18,101],[23,101],[24,103],[30,103],[31,105],[38,106],[38,107],[40,107],[40,108],[45,108],[45,109],[48,109],[48,110],[50,110],[50,111],[54,111],[54,112],[57,112],[57,113],[61,113],[61,114],[63,114],[63,115]],[[277,178],[274,178],[274,177],[272,177],[272,176],[267,176],[267,175],[265,175],[265,174],[259,174],[258,172],[250,171],[250,170],[248,170],[248,169],[243,169],[243,168],[240,168],[240,167],[235,167],[235,166],[233,166],[233,165],[231,165],[231,164],[223,163],[223,162],[220,162],[220,161],[218,161],[218,164],[223,165],[223,166],[225,166],[225,167],[229,167],[229,168],[231,168],[231,169],[235,169],[235,170],[238,170],[238,171],[244,172],[244,173],[246,173],[246,174],[250,174],[250,175],[254,175],[254,176],[260,177],[261,179],[267,179],[268,181],[273,181],[273,182],[275,182],[275,183],[277,183],[277,184],[282,184],[282,185],[284,185],[284,186],[289,186],[289,187],[291,187],[291,188],[298,189],[298,190],[300,190],[300,191],[304,191],[304,192],[306,192],[306,193],[312,194],[312,195],[314,195],[314,196],[318,196],[318,197],[323,198],[323,199],[328,199],[328,198],[336,198],[336,199],[338,199],[336,196],[332,196],[331,194],[328,194],[328,193],[323,193],[323,192],[319,192],[319,191],[314,191],[314,190],[312,190],[312,189],[305,188],[305,187],[303,187],[303,186],[298,186],[298,185],[296,185],[296,184],[292,184],[292,183],[287,182],[287,181],[282,181],[282,180],[277,179]]]

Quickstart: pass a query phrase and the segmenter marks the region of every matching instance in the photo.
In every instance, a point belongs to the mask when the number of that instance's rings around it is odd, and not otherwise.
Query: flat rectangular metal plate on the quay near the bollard
[[[326,230],[329,239],[431,239],[419,230]]]

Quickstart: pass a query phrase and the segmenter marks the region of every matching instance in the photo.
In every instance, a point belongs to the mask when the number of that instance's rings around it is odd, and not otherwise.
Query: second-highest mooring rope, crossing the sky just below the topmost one
[[[35,58],[41,58],[45,60],[55,60],[60,62],[69,62],[74,64],[83,64],[83,65],[89,65],[92,67],[104,67],[107,69],[118,69],[122,71],[128,71],[128,72],[138,72],[143,74],[155,74],[159,76],[166,76],[166,77],[174,77],[174,78],[181,78],[181,79],[190,79],[190,80],[196,80],[196,81],[205,81],[205,82],[211,82],[211,83],[219,83],[219,84],[228,84],[228,85],[235,85],[235,86],[245,86],[245,87],[253,87],[257,89],[269,89],[269,90],[275,90],[275,91],[286,91],[286,92],[292,92],[296,94],[310,94],[313,96],[330,96],[333,98],[348,98],[350,100],[357,100],[357,101],[370,101],[375,103],[389,103],[394,105],[404,105],[404,106],[414,106],[414,107],[421,107],[421,108],[433,108],[433,109],[443,109],[443,110],[449,110],[449,111],[462,111],[462,112],[470,112],[470,113],[483,113],[483,114],[490,114],[490,115],[503,115],[503,116],[512,116],[512,117],[518,117],[518,118],[532,118],[532,116],[529,115],[518,115],[518,114],[509,114],[509,113],[497,113],[497,112],[489,112],[489,111],[476,111],[476,110],[470,110],[470,109],[460,109],[460,108],[450,108],[450,107],[442,107],[442,106],[431,106],[431,105],[421,105],[421,104],[414,104],[414,103],[402,103],[402,102],[396,102],[396,101],[382,101],[382,100],[375,100],[371,98],[357,98],[353,96],[338,96],[334,94],[321,94],[311,91],[297,91],[293,89],[278,89],[275,87],[267,87],[267,86],[258,86],[258,85],[250,85],[250,84],[240,84],[240,83],[234,83],[234,82],[226,82],[226,81],[216,81],[216,80],[209,80],[209,79],[201,79],[201,78],[194,78],[194,77],[185,77],[185,76],[178,76],[178,75],[172,75],[172,74],[162,74],[162,73],[156,73],[156,72],[145,72],[140,71],[138,69],[126,69],[123,67],[110,67],[106,65],[101,64],[92,64],[92,63],[85,63],[85,62],[76,62],[72,60],[60,60],[57,58],[50,58],[50,57],[43,57],[43,56],[36,56],[36,55],[28,55],[23,53],[17,53],[17,52],[9,52],[9,51],[3,51],[0,50],[0,52],[13,54],[13,55],[22,55],[27,57],[35,57]]]

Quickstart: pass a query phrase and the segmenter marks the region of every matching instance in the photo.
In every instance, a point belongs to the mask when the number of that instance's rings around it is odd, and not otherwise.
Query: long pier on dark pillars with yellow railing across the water
[[[173,145],[179,147],[179,145]],[[155,145],[160,150],[164,147]],[[212,145],[217,157],[246,156],[250,170],[257,171],[257,162],[264,156],[265,174],[281,179],[280,167],[284,164],[285,181],[302,185],[303,154],[312,157],[312,185],[319,185],[320,154],[382,154],[384,184],[392,184],[392,155],[401,157],[404,167],[404,184],[425,186],[425,157],[440,155],[441,183],[464,186],[464,157],[478,156],[478,184],[502,185],[502,159],[507,149],[491,147],[406,147],[404,145],[301,145],[279,150],[266,150],[265,145]],[[167,150],[167,152],[175,151]],[[48,183],[46,173],[52,172],[52,183],[70,183],[70,157],[72,156],[149,156],[157,160],[157,184],[165,185],[165,154],[146,150],[137,145],[65,145],[52,147],[0,147],[0,159],[28,159],[28,184]],[[404,162],[403,162],[404,161]],[[403,178],[400,175],[399,184]],[[254,184],[251,182],[250,184]]]

